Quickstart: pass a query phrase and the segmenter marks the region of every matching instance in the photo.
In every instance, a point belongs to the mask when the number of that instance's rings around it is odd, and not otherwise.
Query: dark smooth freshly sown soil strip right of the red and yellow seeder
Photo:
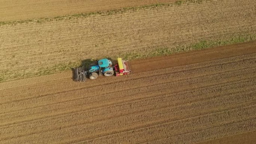
[[[234,49],[235,47],[235,49]],[[205,49],[193,51],[189,53],[179,53],[172,56],[159,56],[150,59],[140,59],[131,62],[133,71],[136,73],[161,68],[176,67],[180,65],[188,65],[196,62],[211,61],[213,59],[227,58],[243,54],[256,52],[256,41],[241,43],[237,45],[220,46],[214,49]],[[198,56],[199,55],[199,56]],[[154,67],[148,67],[148,63]],[[145,66],[144,66],[145,65]]]

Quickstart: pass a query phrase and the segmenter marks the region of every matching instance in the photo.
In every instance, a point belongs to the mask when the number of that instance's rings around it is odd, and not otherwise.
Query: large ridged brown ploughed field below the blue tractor
[[[223,48],[86,83],[70,72],[0,83],[0,144],[192,144],[255,131],[255,42]]]

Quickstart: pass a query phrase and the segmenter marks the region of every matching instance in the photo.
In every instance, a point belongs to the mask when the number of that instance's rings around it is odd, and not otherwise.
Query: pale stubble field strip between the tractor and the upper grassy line
[[[217,45],[255,39],[255,0],[194,2],[1,24],[0,81],[57,73],[83,59],[137,58],[187,51],[195,43],[204,48],[202,40]]]

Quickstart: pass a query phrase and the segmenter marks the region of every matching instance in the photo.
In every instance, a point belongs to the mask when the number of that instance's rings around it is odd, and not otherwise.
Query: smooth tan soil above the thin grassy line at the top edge
[[[48,18],[176,0],[1,0],[0,21]]]

